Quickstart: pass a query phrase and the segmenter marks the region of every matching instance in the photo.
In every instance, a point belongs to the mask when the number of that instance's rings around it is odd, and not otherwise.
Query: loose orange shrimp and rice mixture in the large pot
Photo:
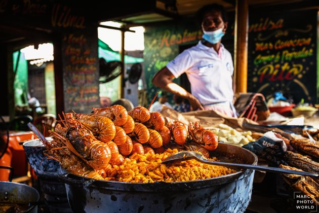
[[[210,179],[236,172],[227,167],[208,165],[196,160],[162,164],[163,160],[177,152],[177,149],[167,149],[163,154],[155,155],[134,153],[125,158],[121,165],[114,165],[117,174],[104,180],[130,183],[182,182]],[[215,157],[210,160],[218,161]]]

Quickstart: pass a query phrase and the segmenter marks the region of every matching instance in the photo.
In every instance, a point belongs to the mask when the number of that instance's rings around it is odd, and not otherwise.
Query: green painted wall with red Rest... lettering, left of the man
[[[179,54],[180,46],[196,45],[201,38],[202,31],[193,20],[145,27],[144,70],[148,102],[160,90],[152,85],[154,74]],[[174,82],[179,84],[180,81],[175,79]]]

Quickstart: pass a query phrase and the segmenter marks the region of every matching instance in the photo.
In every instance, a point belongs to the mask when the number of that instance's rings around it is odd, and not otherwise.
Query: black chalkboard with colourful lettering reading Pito
[[[248,91],[316,102],[317,11],[250,14]]]

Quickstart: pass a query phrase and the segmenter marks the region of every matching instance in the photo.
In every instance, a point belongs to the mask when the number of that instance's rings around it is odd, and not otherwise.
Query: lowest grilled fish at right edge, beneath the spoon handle
[[[301,171],[301,169],[297,169],[291,166],[285,166],[282,164],[279,167]],[[282,176],[284,181],[288,183],[292,188],[305,195],[308,195],[308,197],[310,197],[316,205],[319,204],[319,184],[311,179],[311,177],[297,174],[282,174]]]

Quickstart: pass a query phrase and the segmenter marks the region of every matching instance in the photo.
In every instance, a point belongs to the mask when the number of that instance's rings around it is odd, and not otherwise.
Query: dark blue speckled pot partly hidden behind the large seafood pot
[[[52,140],[51,137],[46,139]],[[38,176],[41,192],[49,210],[51,212],[72,212],[67,201],[65,185],[58,181],[58,175],[62,174],[59,162],[47,159],[43,154],[46,148],[39,139],[25,141],[23,149],[30,166]]]

